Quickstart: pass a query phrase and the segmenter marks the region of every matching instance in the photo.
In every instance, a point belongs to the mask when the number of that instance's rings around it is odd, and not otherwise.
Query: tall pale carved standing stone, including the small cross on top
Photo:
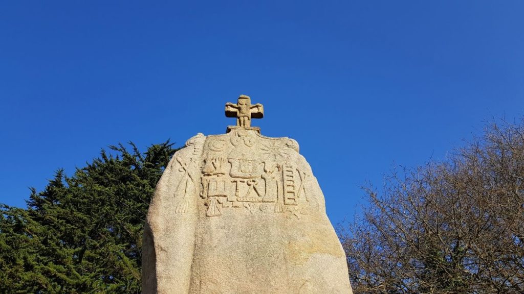
[[[189,139],[157,184],[143,293],[352,293],[346,256],[297,141],[251,127],[264,109],[248,96],[225,110],[237,126]]]

